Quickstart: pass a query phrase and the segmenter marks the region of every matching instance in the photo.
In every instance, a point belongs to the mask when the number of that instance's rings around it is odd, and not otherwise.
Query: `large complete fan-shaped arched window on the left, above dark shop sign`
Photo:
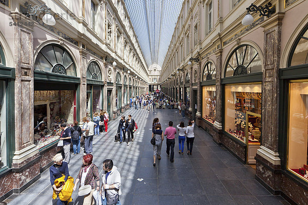
[[[61,46],[50,44],[37,54],[34,69],[76,76],[76,66],[71,55]]]

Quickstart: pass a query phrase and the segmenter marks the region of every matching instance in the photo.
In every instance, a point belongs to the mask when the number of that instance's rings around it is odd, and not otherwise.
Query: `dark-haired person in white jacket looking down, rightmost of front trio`
[[[121,205],[119,197],[121,196],[121,175],[118,168],[113,166],[111,159],[103,161],[103,170],[105,173],[102,176],[102,204],[103,205]]]

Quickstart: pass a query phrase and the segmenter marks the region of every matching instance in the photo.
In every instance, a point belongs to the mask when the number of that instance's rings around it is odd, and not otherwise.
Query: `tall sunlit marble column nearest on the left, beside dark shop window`
[[[31,25],[32,20],[26,19],[18,11],[12,12],[12,19],[16,26],[14,29],[14,60],[15,60],[15,152],[12,162],[13,169],[20,169],[38,155],[34,145],[34,52],[33,52],[33,27],[19,24],[20,20]],[[37,24],[34,22],[34,25]],[[39,174],[40,170],[33,169],[29,176]],[[33,176],[34,177],[34,176]],[[24,177],[31,180],[31,177]],[[16,179],[17,180],[17,179]],[[22,182],[20,182],[21,184]]]

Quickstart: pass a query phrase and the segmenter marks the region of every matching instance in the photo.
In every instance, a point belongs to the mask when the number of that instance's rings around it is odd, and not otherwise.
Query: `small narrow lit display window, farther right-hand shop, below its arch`
[[[216,86],[202,87],[202,117],[214,123],[216,119]]]

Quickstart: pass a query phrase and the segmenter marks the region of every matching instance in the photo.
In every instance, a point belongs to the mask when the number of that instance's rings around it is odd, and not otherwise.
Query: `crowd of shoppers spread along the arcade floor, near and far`
[[[166,105],[167,108],[177,108],[182,117],[185,117],[186,106],[181,101],[175,102],[170,100],[164,94],[156,95],[155,93],[137,96],[130,99],[130,104],[134,105],[135,109],[155,109],[157,105]],[[162,107],[163,108],[163,107]],[[94,135],[101,133],[101,128],[105,127],[107,132],[108,113],[101,111],[95,112],[93,120],[90,117],[83,118],[83,124],[79,126],[78,121],[74,121],[72,127],[66,124],[61,124],[62,130],[60,140],[63,140],[63,153],[58,153],[53,157],[54,164],[50,167],[50,182],[53,188],[53,199],[56,200],[57,205],[68,204],[72,199],[72,192],[78,189],[79,196],[83,196],[83,204],[92,205],[94,201],[96,204],[121,204],[119,195],[121,195],[121,175],[117,167],[113,166],[111,159],[103,161],[104,174],[100,180],[99,168],[92,163],[93,148],[92,141]],[[178,134],[179,153],[184,153],[184,142],[187,143],[187,154],[192,154],[192,146],[194,144],[194,125],[195,121],[189,121],[187,127],[184,126],[184,121],[181,121],[176,127],[172,121],[169,121],[168,127],[163,131],[159,118],[153,119],[151,144],[153,145],[153,166],[156,167],[157,159],[160,160],[161,148],[166,138],[166,153],[170,162],[174,162],[174,147],[176,144],[176,135]],[[127,146],[130,141],[134,140],[134,132],[138,126],[131,115],[127,119],[122,115],[115,135],[115,141],[126,141]],[[126,137],[127,135],[127,137]],[[73,154],[79,154],[81,151],[81,141],[84,146],[84,156],[82,166],[79,170],[78,176],[74,179],[69,174],[68,163],[70,161],[70,144],[72,143]],[[152,141],[155,141],[152,143]]]

